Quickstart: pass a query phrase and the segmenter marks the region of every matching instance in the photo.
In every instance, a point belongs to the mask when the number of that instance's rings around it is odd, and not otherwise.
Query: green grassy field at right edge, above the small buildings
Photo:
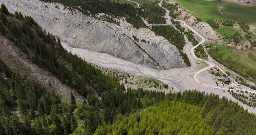
[[[256,83],[256,50],[238,50],[235,47],[213,44],[208,53],[220,64]]]

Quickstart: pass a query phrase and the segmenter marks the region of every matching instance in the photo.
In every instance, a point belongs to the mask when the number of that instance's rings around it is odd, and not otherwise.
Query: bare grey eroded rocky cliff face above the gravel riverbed
[[[32,16],[38,24],[75,48],[104,52],[157,69],[185,67],[177,48],[148,28],[136,29],[121,18],[112,24],[61,4],[39,0],[0,0],[10,12]],[[104,16],[98,14],[97,16]]]

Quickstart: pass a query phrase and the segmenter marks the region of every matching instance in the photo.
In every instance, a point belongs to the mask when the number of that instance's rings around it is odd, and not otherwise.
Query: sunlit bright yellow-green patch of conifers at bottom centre
[[[200,115],[200,107],[188,103],[166,102],[138,111],[117,121],[108,135],[214,135]],[[96,135],[102,134],[101,128]]]

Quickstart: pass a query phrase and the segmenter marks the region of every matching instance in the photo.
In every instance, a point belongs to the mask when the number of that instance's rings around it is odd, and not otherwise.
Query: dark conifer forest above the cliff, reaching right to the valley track
[[[152,4],[142,4],[141,8],[135,8],[130,4],[119,3],[118,0],[41,0],[54,2],[75,8],[86,15],[93,16],[105,13],[116,18],[125,17],[128,23],[136,28],[146,27],[141,17],[148,20],[149,24],[166,24],[163,17],[165,10],[158,6],[159,1]],[[71,8],[69,8],[72,10]],[[105,20],[109,21],[109,20]],[[111,22],[111,21],[110,21]],[[111,22],[112,23],[112,22]]]

